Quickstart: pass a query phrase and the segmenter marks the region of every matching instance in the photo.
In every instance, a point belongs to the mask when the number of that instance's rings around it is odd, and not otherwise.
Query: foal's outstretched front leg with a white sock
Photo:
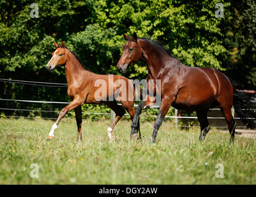
[[[67,105],[67,107],[64,107],[60,111],[57,121],[52,125],[52,129],[49,132],[48,140],[51,140],[54,137],[54,131],[57,129],[57,127],[60,123],[60,120],[63,118],[63,116],[65,116],[66,113],[68,113],[68,111],[73,110],[74,108],[78,107],[80,104],[81,104],[81,102],[79,100],[73,100],[71,103],[69,103]]]

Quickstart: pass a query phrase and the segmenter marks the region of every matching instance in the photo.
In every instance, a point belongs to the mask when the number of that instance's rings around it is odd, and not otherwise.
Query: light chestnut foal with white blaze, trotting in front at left
[[[52,71],[56,66],[64,66],[68,84],[67,94],[72,102],[60,111],[59,118],[57,118],[56,123],[53,124],[48,139],[51,140],[52,137],[54,137],[54,131],[57,129],[63,116],[65,116],[68,111],[74,109],[78,127],[78,140],[82,140],[81,106],[84,103],[103,103],[116,114],[114,121],[107,128],[108,139],[110,141],[114,140],[115,124],[125,115],[125,110],[128,111],[133,120],[135,111],[133,83],[123,76],[95,74],[89,71],[88,68],[80,62],[79,58],[65,47],[64,42],[61,42],[61,45],[54,42],[54,46],[56,50],[52,53],[52,58],[47,63],[47,70]],[[112,80],[110,80],[111,78]],[[102,91],[99,92],[101,87]],[[122,93],[122,96],[118,97],[120,93]],[[122,107],[117,104],[117,101],[122,103]]]

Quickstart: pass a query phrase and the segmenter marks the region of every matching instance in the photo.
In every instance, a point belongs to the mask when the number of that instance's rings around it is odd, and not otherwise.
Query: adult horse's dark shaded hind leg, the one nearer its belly
[[[202,142],[202,140],[205,139],[206,134],[210,131],[210,126],[209,126],[209,122],[207,119],[207,113],[208,113],[208,110],[196,112],[197,119],[200,123],[199,142]]]

